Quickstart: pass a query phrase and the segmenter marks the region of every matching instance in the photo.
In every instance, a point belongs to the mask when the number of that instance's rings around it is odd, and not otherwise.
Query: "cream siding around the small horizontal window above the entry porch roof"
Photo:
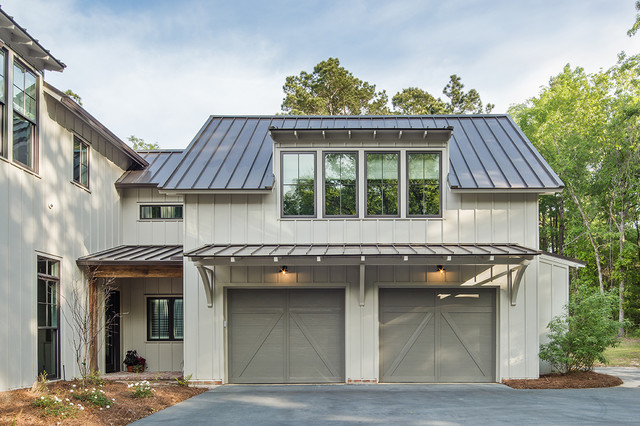
[[[132,245],[182,244],[182,220],[141,220],[141,205],[182,204],[182,197],[164,195],[157,188],[122,189],[122,243]]]

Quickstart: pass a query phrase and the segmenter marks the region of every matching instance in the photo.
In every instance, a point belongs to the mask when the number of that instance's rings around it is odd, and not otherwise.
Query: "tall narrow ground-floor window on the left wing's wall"
[[[38,374],[58,378],[60,262],[38,257]]]

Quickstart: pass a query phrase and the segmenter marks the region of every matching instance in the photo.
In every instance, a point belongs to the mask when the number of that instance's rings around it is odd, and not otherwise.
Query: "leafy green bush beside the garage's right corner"
[[[561,373],[591,370],[596,361],[606,363],[605,349],[618,344],[620,323],[612,319],[616,300],[612,293],[572,297],[565,307],[568,314],[549,323],[549,343],[540,345],[540,358]]]

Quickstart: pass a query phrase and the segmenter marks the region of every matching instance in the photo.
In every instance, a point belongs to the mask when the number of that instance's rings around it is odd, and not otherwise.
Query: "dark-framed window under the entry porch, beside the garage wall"
[[[147,299],[147,340],[183,340],[182,297]]]

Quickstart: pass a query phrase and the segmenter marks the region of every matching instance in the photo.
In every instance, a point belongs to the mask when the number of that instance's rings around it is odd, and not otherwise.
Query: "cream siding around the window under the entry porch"
[[[136,350],[147,360],[147,371],[181,371],[182,341],[147,340],[147,298],[182,296],[182,279],[122,278],[114,288],[120,291],[120,360],[128,350]]]

